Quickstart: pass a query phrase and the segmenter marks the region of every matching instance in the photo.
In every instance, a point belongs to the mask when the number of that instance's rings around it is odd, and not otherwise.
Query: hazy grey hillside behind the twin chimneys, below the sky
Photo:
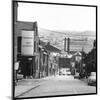
[[[96,38],[95,32],[92,31],[52,31],[47,29],[38,28],[38,34],[42,41],[50,42],[55,47],[60,50],[64,49],[64,38],[70,38],[70,50],[71,51],[81,51],[82,48],[85,52],[89,52],[93,47],[93,41]],[[73,41],[75,40],[84,40],[84,41]]]

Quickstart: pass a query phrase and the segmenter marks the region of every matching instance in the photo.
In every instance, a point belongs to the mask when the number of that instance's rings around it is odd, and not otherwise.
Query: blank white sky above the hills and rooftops
[[[95,8],[19,3],[18,20],[37,21],[49,30],[95,31]]]

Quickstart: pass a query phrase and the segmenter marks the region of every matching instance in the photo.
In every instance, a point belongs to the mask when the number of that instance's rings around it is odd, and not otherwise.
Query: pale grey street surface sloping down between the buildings
[[[28,86],[29,84],[27,85],[27,87]],[[86,81],[74,79],[73,76],[56,75],[43,78],[40,84],[36,88],[30,89],[30,91],[27,91],[17,96],[17,98],[86,94],[86,93],[96,93],[96,87],[88,86]]]

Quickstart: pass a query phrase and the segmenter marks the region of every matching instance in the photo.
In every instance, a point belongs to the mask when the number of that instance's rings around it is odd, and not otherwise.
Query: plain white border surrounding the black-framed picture
[[[31,1],[31,0],[30,0]],[[44,2],[56,3],[71,3],[71,4],[90,4],[98,5],[98,26],[100,26],[100,0],[34,0]],[[0,3],[0,99],[10,100],[11,96],[11,62],[12,62],[12,38],[11,38],[11,0],[2,0]],[[100,51],[100,30],[98,29],[98,51]],[[100,76],[100,53],[98,52],[98,76]],[[100,77],[98,78],[100,84]],[[98,95],[86,96],[68,96],[68,97],[54,97],[54,98],[41,98],[41,100],[99,100],[100,86],[98,86]],[[40,98],[39,98],[40,99]],[[37,99],[37,100],[39,100]],[[26,99],[25,99],[26,100]],[[29,99],[28,99],[29,100]],[[31,99],[32,100],[32,99]]]

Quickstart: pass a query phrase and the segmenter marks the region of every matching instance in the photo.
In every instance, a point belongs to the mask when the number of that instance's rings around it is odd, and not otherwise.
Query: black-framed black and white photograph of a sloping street
[[[12,3],[14,98],[97,94],[97,6]]]

